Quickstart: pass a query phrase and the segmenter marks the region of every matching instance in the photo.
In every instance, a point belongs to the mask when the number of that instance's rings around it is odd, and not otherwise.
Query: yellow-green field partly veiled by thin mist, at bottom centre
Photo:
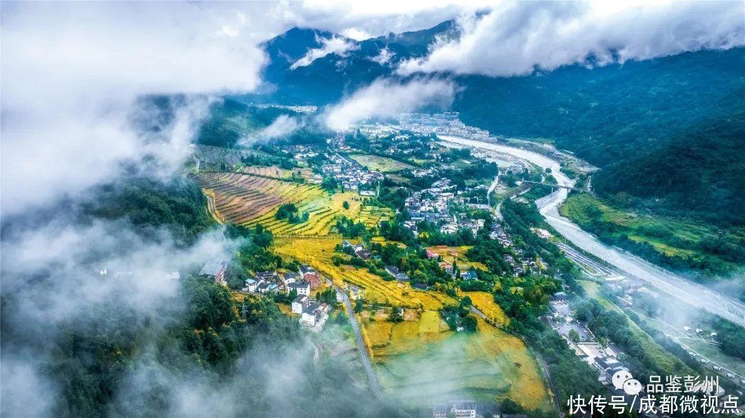
[[[480,402],[510,398],[527,409],[551,408],[539,366],[527,347],[481,318],[475,333],[441,327],[439,314],[427,311],[419,321],[363,322],[363,327],[375,334],[378,382],[405,405],[423,408],[437,399],[468,397]]]

